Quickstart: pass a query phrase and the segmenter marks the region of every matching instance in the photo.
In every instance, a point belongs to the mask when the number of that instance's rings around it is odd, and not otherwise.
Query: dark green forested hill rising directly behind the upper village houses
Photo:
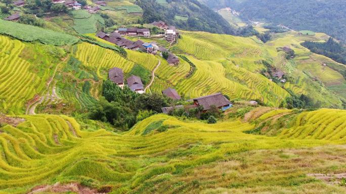
[[[144,23],[162,20],[189,31],[236,33],[224,18],[197,0],[169,0],[164,4],[157,0],[137,0],[136,4],[144,10]]]

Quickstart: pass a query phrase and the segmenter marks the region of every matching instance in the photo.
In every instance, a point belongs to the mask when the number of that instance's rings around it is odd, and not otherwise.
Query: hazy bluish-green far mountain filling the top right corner
[[[200,0],[212,9],[231,7],[245,20],[324,32],[346,41],[346,3],[339,0]]]

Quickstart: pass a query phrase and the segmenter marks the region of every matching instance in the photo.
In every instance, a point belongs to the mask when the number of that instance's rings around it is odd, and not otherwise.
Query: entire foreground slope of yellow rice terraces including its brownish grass
[[[64,115],[21,116],[24,122],[0,127],[0,193],[71,181],[99,188],[114,185],[115,193],[242,193],[244,187],[252,193],[270,192],[273,186],[279,191],[318,187],[311,193],[342,193],[343,188],[307,174],[344,169],[339,165],[344,159],[335,156],[345,148],[323,145],[345,143],[345,115],[330,109],[300,113],[279,137],[244,134],[254,125],[239,120],[210,125],[158,114],[116,134],[86,132]],[[302,166],[307,163],[316,166]]]

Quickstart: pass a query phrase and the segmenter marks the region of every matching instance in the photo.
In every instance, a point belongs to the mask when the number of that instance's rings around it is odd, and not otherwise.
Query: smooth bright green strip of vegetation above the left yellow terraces
[[[75,44],[79,40],[68,34],[5,20],[0,20],[0,34],[13,36],[23,41],[39,41],[57,46]]]

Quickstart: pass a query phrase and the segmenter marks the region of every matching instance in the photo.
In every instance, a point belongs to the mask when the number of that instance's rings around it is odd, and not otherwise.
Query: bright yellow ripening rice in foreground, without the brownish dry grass
[[[334,133],[333,136],[327,134],[325,137],[330,137],[330,140],[335,137],[337,141],[344,142],[344,122],[340,122],[340,119],[344,118],[345,111],[321,111],[330,112],[325,119],[324,128],[329,128]],[[303,127],[307,122],[320,122],[318,117],[307,117],[309,114],[298,115],[299,119],[294,127]],[[311,112],[313,114],[316,112]],[[334,121],[327,124],[332,115],[335,117]],[[159,188],[164,187],[161,185],[163,180],[158,181],[158,177],[166,174],[170,174],[172,178],[183,174],[186,176],[191,170],[198,171],[202,167],[234,160],[229,157],[237,154],[332,143],[315,139],[297,141],[244,134],[243,131],[251,130],[254,126],[239,120],[206,124],[158,114],[137,123],[129,132],[117,134],[98,128],[94,132],[83,131],[80,123],[64,115],[20,117],[25,121],[19,125],[0,127],[2,194],[26,193],[36,185],[88,179],[99,185],[117,185],[114,189],[122,190],[123,193],[152,193],[149,182],[156,180],[156,184],[160,184]],[[322,137],[326,131],[318,130],[317,133]],[[242,168],[247,167],[244,165]],[[292,169],[289,170],[278,171],[280,176],[276,180],[284,180],[290,176],[300,177],[294,176]],[[222,173],[217,172],[220,176]],[[203,177],[202,174],[195,178]],[[231,184],[242,178],[222,181],[215,177],[212,179],[214,181],[204,183],[207,188],[214,188],[214,184],[225,181]],[[257,180],[251,185],[263,185],[264,182],[265,180]],[[244,184],[248,185],[246,181]],[[201,187],[186,189],[185,193]],[[167,191],[160,193],[169,193]]]

